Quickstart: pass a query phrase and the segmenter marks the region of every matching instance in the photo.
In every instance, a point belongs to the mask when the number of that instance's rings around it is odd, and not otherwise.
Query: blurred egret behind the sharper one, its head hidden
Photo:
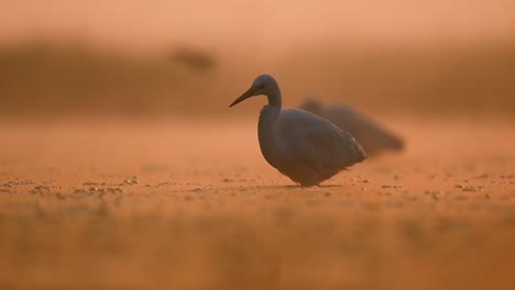
[[[300,108],[327,119],[341,130],[350,133],[370,156],[386,150],[402,150],[404,147],[404,141],[399,136],[349,105],[325,108],[315,98],[308,98]]]

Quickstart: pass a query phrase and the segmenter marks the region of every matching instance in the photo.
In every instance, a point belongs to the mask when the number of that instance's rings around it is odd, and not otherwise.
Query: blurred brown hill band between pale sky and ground
[[[325,47],[325,48],[324,48]],[[243,56],[243,57],[242,57]],[[223,115],[261,72],[281,82],[285,105],[307,94],[370,111],[515,116],[515,45],[300,47],[267,59],[188,46],[131,54],[77,43],[0,47],[0,113]],[[246,59],[246,60],[242,60]],[[260,102],[263,103],[264,100]],[[255,112],[254,104],[240,110]]]

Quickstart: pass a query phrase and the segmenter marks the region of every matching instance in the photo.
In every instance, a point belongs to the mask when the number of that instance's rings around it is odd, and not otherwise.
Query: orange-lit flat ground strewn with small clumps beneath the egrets
[[[255,121],[3,122],[0,289],[514,289],[514,124],[390,124],[302,188]]]

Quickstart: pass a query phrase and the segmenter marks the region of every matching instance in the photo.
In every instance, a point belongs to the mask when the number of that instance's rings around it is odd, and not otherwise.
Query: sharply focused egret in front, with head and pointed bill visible
[[[281,90],[270,75],[261,75],[229,107],[264,94],[258,123],[260,148],[266,161],[300,186],[316,186],[361,163],[366,153],[347,132],[300,109],[282,110]]]

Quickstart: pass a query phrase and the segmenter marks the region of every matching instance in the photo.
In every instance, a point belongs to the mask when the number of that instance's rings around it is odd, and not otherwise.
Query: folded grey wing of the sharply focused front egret
[[[350,134],[304,110],[283,110],[280,130],[295,157],[319,172],[341,170],[366,158]]]

